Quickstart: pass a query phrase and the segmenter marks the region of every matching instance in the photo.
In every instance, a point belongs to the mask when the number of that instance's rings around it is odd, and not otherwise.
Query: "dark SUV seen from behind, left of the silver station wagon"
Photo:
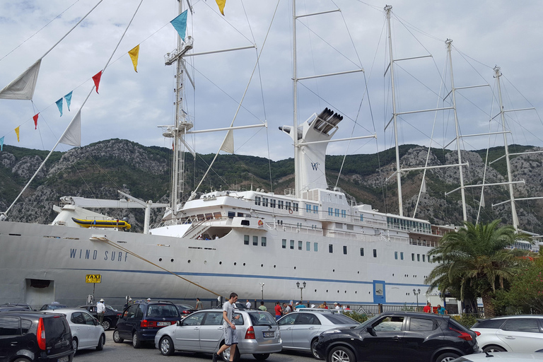
[[[113,341],[132,339],[132,346],[140,348],[144,341],[154,342],[158,329],[175,325],[180,319],[179,310],[171,302],[136,302],[124,308],[113,331]]]

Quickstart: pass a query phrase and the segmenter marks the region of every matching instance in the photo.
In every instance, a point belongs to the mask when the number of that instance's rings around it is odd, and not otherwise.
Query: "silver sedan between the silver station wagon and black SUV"
[[[281,329],[283,349],[307,351],[311,352],[315,358],[320,358],[315,351],[319,334],[328,329],[354,327],[360,324],[346,315],[337,313],[337,310],[334,312],[334,310],[309,309],[301,308],[298,312],[288,313],[277,321]]]

